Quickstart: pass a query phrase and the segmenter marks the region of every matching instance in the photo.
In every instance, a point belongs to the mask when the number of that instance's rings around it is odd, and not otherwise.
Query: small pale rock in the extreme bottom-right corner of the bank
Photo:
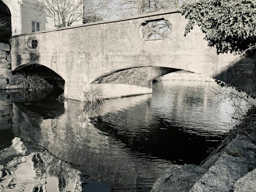
[[[234,192],[256,191],[256,169],[252,170],[234,184]]]

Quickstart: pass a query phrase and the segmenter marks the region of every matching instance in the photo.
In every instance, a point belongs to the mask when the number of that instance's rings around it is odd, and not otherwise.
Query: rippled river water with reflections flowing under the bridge
[[[2,91],[0,191],[150,191],[172,164],[200,164],[223,140],[234,109],[221,89],[160,81],[89,112],[57,91]]]

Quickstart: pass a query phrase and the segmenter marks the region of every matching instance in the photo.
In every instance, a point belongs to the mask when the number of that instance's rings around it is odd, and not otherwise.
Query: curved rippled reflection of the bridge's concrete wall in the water
[[[134,97],[132,99],[134,101],[130,99],[128,105],[136,104],[143,98],[146,96]],[[104,106],[107,106],[107,103],[108,101]],[[97,173],[90,176],[92,180],[121,186],[145,185],[144,187],[150,189],[147,183],[154,182],[162,173],[164,169],[157,168],[161,164],[129,155],[129,149],[125,148],[125,144],[115,143],[104,132],[89,123],[88,115],[79,110],[79,102],[68,101],[65,105],[65,114],[56,119],[44,119],[41,115],[31,112],[26,105],[14,105],[12,125],[14,134],[24,141],[32,141],[45,147],[59,159],[81,165],[79,169],[89,175]],[[127,104],[121,102],[120,106],[125,108]],[[120,108],[110,111],[105,108],[100,113],[107,111],[110,113]]]

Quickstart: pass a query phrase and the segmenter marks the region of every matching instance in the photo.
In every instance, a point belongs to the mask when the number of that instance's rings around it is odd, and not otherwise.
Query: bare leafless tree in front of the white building
[[[35,0],[34,7],[50,14],[55,27],[65,27],[82,18],[82,4],[83,0]]]

